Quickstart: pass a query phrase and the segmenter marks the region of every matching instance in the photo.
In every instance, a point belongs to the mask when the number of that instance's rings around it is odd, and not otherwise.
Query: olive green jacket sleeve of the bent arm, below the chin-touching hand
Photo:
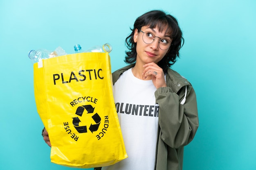
[[[177,94],[170,87],[160,87],[155,92],[161,139],[171,148],[189,144],[199,126],[196,96],[191,85],[187,85],[186,102],[182,105],[184,95],[185,86]]]

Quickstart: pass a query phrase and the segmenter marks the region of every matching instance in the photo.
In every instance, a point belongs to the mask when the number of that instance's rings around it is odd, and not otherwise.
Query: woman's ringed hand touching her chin
[[[159,87],[167,87],[166,81],[164,79],[164,71],[156,63],[147,63],[143,65],[145,68],[142,72],[143,77],[146,79],[151,76],[153,84],[158,89]]]

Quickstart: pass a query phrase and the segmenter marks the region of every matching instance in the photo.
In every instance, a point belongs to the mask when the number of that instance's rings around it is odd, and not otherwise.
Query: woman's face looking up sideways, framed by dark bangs
[[[155,40],[151,44],[146,44],[143,39],[143,31],[150,32],[151,34],[155,35]],[[149,28],[149,26],[142,26],[141,31],[135,29],[135,33],[133,36],[133,41],[137,43],[136,51],[137,51],[137,59],[136,63],[146,64],[146,63],[158,63],[162,58],[164,58],[165,54],[168,52],[169,48],[167,50],[162,50],[159,48],[159,37],[161,39],[168,39],[172,40],[170,38],[170,35],[165,35],[165,31],[162,32],[158,31],[158,28]],[[144,35],[146,36],[146,35]]]

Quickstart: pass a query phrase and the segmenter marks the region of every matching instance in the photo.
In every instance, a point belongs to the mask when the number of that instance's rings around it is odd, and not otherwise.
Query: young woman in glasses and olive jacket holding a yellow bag
[[[149,11],[136,19],[126,45],[130,65],[112,77],[128,158],[102,170],[182,170],[184,146],[199,125],[192,85],[170,68],[182,31],[173,16]]]

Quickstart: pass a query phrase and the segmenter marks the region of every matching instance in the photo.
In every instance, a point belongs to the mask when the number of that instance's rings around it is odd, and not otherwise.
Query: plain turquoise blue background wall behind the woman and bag
[[[1,0],[0,169],[71,170],[50,162],[34,101],[29,50],[73,53],[109,42],[112,71],[124,63],[135,19],[152,9],[177,17],[184,33],[173,66],[196,90],[200,127],[184,170],[256,169],[256,1]]]

